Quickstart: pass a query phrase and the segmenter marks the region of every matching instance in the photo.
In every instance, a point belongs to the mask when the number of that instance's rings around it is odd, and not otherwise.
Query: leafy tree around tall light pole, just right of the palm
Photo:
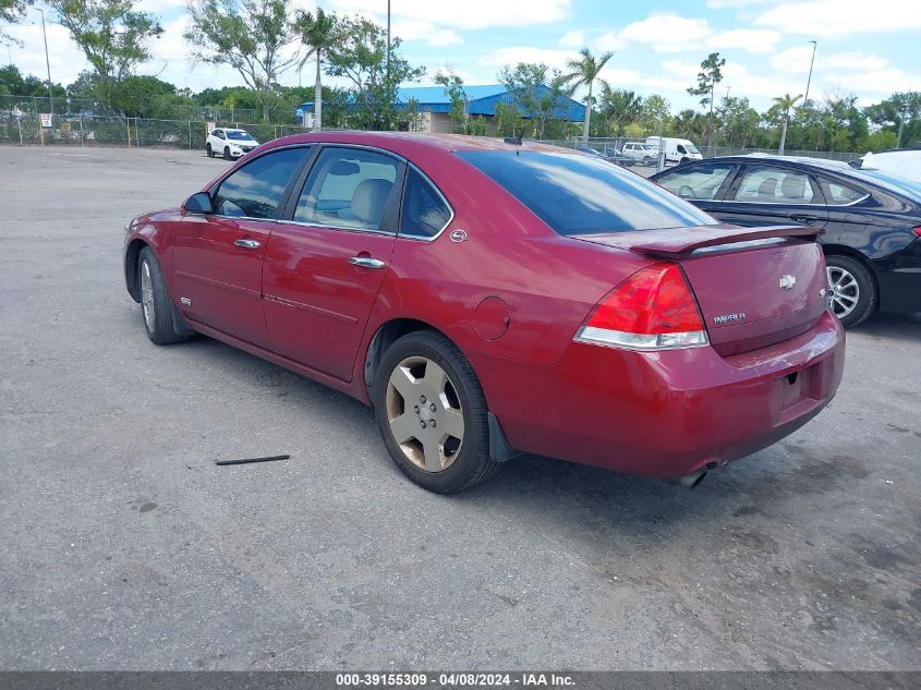
[[[339,40],[327,50],[326,73],[350,83],[354,104],[353,126],[363,130],[396,130],[410,125],[417,113],[397,107],[397,88],[417,82],[425,68],[413,66],[399,52],[400,39],[390,41],[387,62],[387,32],[363,16],[339,20]]]

